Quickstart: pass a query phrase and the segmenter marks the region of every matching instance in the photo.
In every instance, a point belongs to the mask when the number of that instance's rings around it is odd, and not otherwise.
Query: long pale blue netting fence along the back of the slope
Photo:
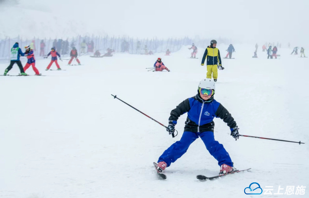
[[[171,52],[178,51],[181,46],[191,45],[194,43],[197,47],[205,48],[210,44],[211,39],[199,39],[199,38],[168,38],[168,39],[158,39],[158,38],[132,38],[132,37],[116,37],[116,36],[92,36],[92,37],[82,37],[77,36],[73,38],[33,38],[33,39],[23,39],[17,38],[6,38],[0,40],[0,58],[9,59],[10,51],[15,42],[19,43],[19,47],[24,51],[24,46],[30,45],[34,49],[34,54],[40,56],[40,44],[44,42],[44,54],[45,56],[49,53],[52,47],[56,47],[56,50],[61,55],[70,54],[70,50],[74,46],[78,53],[81,54],[82,43],[86,42],[85,51],[88,54],[93,54],[95,50],[99,50],[100,53],[106,53],[107,48],[115,50],[115,53],[130,53],[130,54],[145,54],[152,51],[153,53],[165,52],[169,49]],[[228,43],[227,39],[217,39],[220,43]]]

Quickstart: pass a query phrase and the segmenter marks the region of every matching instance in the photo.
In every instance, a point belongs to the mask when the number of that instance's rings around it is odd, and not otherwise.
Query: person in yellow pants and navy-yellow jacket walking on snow
[[[217,81],[218,78],[218,69],[224,69],[222,67],[220,51],[217,46],[216,40],[210,41],[210,46],[205,49],[201,65],[204,65],[206,61],[207,65],[207,74],[206,77],[211,79],[211,75],[214,78],[214,81]]]

